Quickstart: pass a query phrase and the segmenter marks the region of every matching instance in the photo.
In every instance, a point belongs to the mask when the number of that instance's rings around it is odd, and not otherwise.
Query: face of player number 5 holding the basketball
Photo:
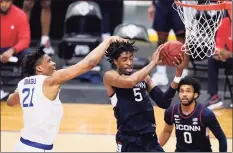
[[[133,54],[131,52],[123,52],[114,61],[117,66],[118,71],[122,74],[130,75],[133,72]]]

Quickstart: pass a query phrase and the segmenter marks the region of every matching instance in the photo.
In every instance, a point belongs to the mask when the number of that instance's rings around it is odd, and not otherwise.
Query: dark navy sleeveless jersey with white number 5
[[[116,88],[111,96],[117,129],[120,133],[155,132],[154,109],[147,93],[147,84],[141,81],[133,88]]]

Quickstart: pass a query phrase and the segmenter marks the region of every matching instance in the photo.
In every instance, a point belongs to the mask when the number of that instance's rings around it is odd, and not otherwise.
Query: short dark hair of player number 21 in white
[[[22,61],[22,72],[24,75],[35,75],[36,66],[40,64],[42,57],[45,55],[44,48],[45,46],[39,46],[34,52],[24,56]]]

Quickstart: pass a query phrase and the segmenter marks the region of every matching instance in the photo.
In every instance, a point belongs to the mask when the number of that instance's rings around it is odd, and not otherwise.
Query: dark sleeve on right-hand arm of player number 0
[[[214,136],[218,139],[219,152],[227,152],[227,139],[214,113],[211,110],[205,108],[202,117],[204,126],[208,127]]]

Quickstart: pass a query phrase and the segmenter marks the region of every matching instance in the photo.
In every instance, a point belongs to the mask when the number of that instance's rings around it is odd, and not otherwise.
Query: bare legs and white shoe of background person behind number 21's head
[[[30,20],[31,11],[35,5],[36,0],[24,0],[23,10],[27,13],[28,19]],[[41,1],[41,45],[45,45],[45,53],[49,55],[54,54],[54,49],[51,46],[49,39],[50,23],[51,23],[51,0],[40,0]]]

